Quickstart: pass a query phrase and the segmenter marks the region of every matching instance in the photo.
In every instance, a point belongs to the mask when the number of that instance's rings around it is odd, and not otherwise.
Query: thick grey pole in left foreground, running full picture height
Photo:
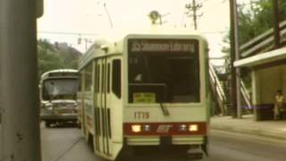
[[[36,0],[0,0],[2,158],[40,161]]]

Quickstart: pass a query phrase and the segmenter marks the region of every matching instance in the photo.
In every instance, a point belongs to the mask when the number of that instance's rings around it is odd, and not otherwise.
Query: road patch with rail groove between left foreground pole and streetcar
[[[46,128],[42,123],[41,147],[43,161],[95,161],[97,158],[74,124]]]

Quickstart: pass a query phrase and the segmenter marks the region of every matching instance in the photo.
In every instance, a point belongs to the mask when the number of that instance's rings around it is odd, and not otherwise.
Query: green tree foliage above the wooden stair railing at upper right
[[[279,1],[280,19],[286,17],[286,1]],[[240,45],[273,28],[273,0],[257,0],[253,4],[240,4],[239,12],[239,42]],[[224,42],[230,42],[230,34],[224,37]],[[223,47],[223,53],[229,54],[229,47]]]

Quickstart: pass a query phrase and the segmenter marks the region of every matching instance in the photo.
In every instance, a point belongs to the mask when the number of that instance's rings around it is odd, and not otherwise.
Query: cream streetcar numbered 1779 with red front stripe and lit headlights
[[[108,160],[143,148],[207,154],[207,52],[206,38],[189,30],[95,42],[79,68],[81,131],[95,153]]]

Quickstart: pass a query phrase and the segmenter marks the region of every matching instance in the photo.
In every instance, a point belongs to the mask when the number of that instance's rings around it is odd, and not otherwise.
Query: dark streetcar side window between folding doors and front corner
[[[122,62],[120,59],[113,60],[113,86],[112,90],[117,97],[122,97]]]

